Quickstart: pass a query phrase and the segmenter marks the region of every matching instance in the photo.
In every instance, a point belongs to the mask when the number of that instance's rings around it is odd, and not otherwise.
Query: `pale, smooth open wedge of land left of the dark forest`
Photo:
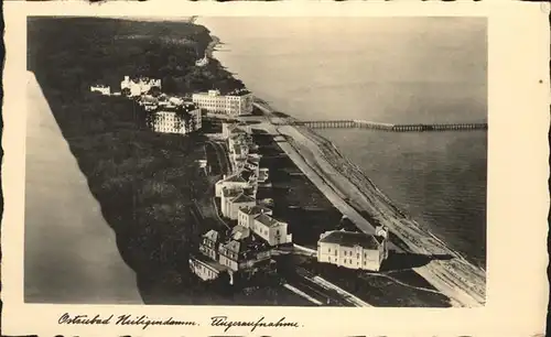
[[[141,304],[115,232],[34,75],[28,78],[24,301]]]

